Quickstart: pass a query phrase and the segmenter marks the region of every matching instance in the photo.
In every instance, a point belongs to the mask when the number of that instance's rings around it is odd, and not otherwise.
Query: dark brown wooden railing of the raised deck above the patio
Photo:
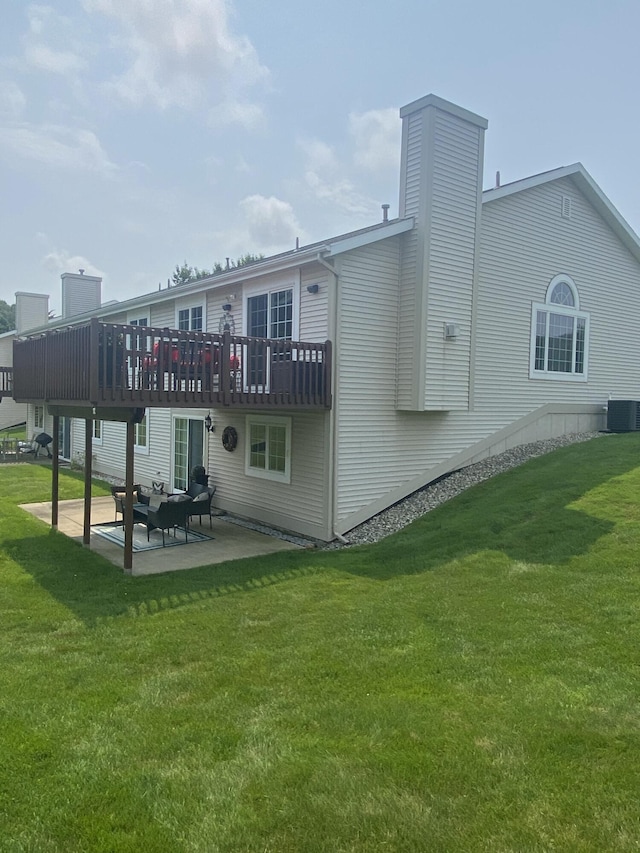
[[[331,406],[331,344],[100,323],[14,343],[24,402],[91,406]]]

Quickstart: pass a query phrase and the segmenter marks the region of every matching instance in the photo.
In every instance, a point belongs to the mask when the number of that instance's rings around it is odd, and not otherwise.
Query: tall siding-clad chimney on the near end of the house
[[[465,411],[488,123],[436,95],[402,107],[400,117],[399,210],[415,228],[402,249],[399,363],[415,367],[398,377],[398,406]],[[455,339],[443,339],[444,323],[459,328]]]

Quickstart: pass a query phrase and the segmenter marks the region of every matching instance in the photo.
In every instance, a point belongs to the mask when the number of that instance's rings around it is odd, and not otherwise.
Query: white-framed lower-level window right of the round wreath
[[[291,418],[247,418],[245,473],[291,482]]]

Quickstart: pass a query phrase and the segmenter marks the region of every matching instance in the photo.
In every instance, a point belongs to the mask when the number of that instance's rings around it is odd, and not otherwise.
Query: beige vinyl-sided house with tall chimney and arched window
[[[277,381],[257,356],[235,406],[148,405],[136,481],[184,487],[203,464],[219,508],[330,540],[447,471],[603,428],[609,399],[640,399],[620,346],[640,337],[640,243],[584,168],[483,193],[485,119],[433,95],[400,115],[397,219],[64,321],[332,342],[326,405],[252,408]],[[28,431],[51,429],[43,403]],[[84,422],[61,423],[63,454],[82,454]],[[123,477],[124,424],[93,430],[94,469]]]

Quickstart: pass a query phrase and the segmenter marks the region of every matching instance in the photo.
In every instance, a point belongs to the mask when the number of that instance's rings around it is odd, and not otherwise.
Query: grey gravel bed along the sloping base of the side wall
[[[328,549],[344,548],[348,545],[377,542],[379,539],[406,527],[407,524],[440,506],[440,504],[451,500],[451,498],[468,489],[469,486],[495,477],[496,474],[508,471],[509,468],[522,465],[523,462],[532,459],[534,456],[543,456],[559,447],[581,441],[590,441],[592,438],[606,434],[601,432],[569,433],[558,436],[558,438],[522,444],[496,456],[489,456],[480,462],[461,468],[459,471],[446,474],[439,480],[419,489],[417,492],[413,492],[413,494],[358,525],[358,527],[354,527],[347,533],[346,542],[330,542],[325,547]]]

